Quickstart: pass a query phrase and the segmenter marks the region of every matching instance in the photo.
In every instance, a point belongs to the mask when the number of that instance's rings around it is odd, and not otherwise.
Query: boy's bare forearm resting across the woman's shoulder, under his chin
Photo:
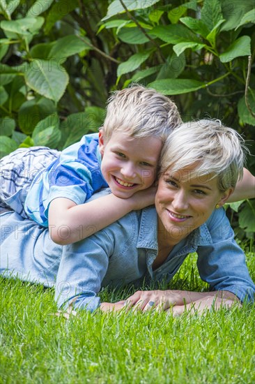
[[[150,187],[128,199],[111,193],[80,205],[68,198],[56,198],[49,205],[49,234],[56,244],[79,242],[125,214],[153,205],[155,192],[156,188]]]

